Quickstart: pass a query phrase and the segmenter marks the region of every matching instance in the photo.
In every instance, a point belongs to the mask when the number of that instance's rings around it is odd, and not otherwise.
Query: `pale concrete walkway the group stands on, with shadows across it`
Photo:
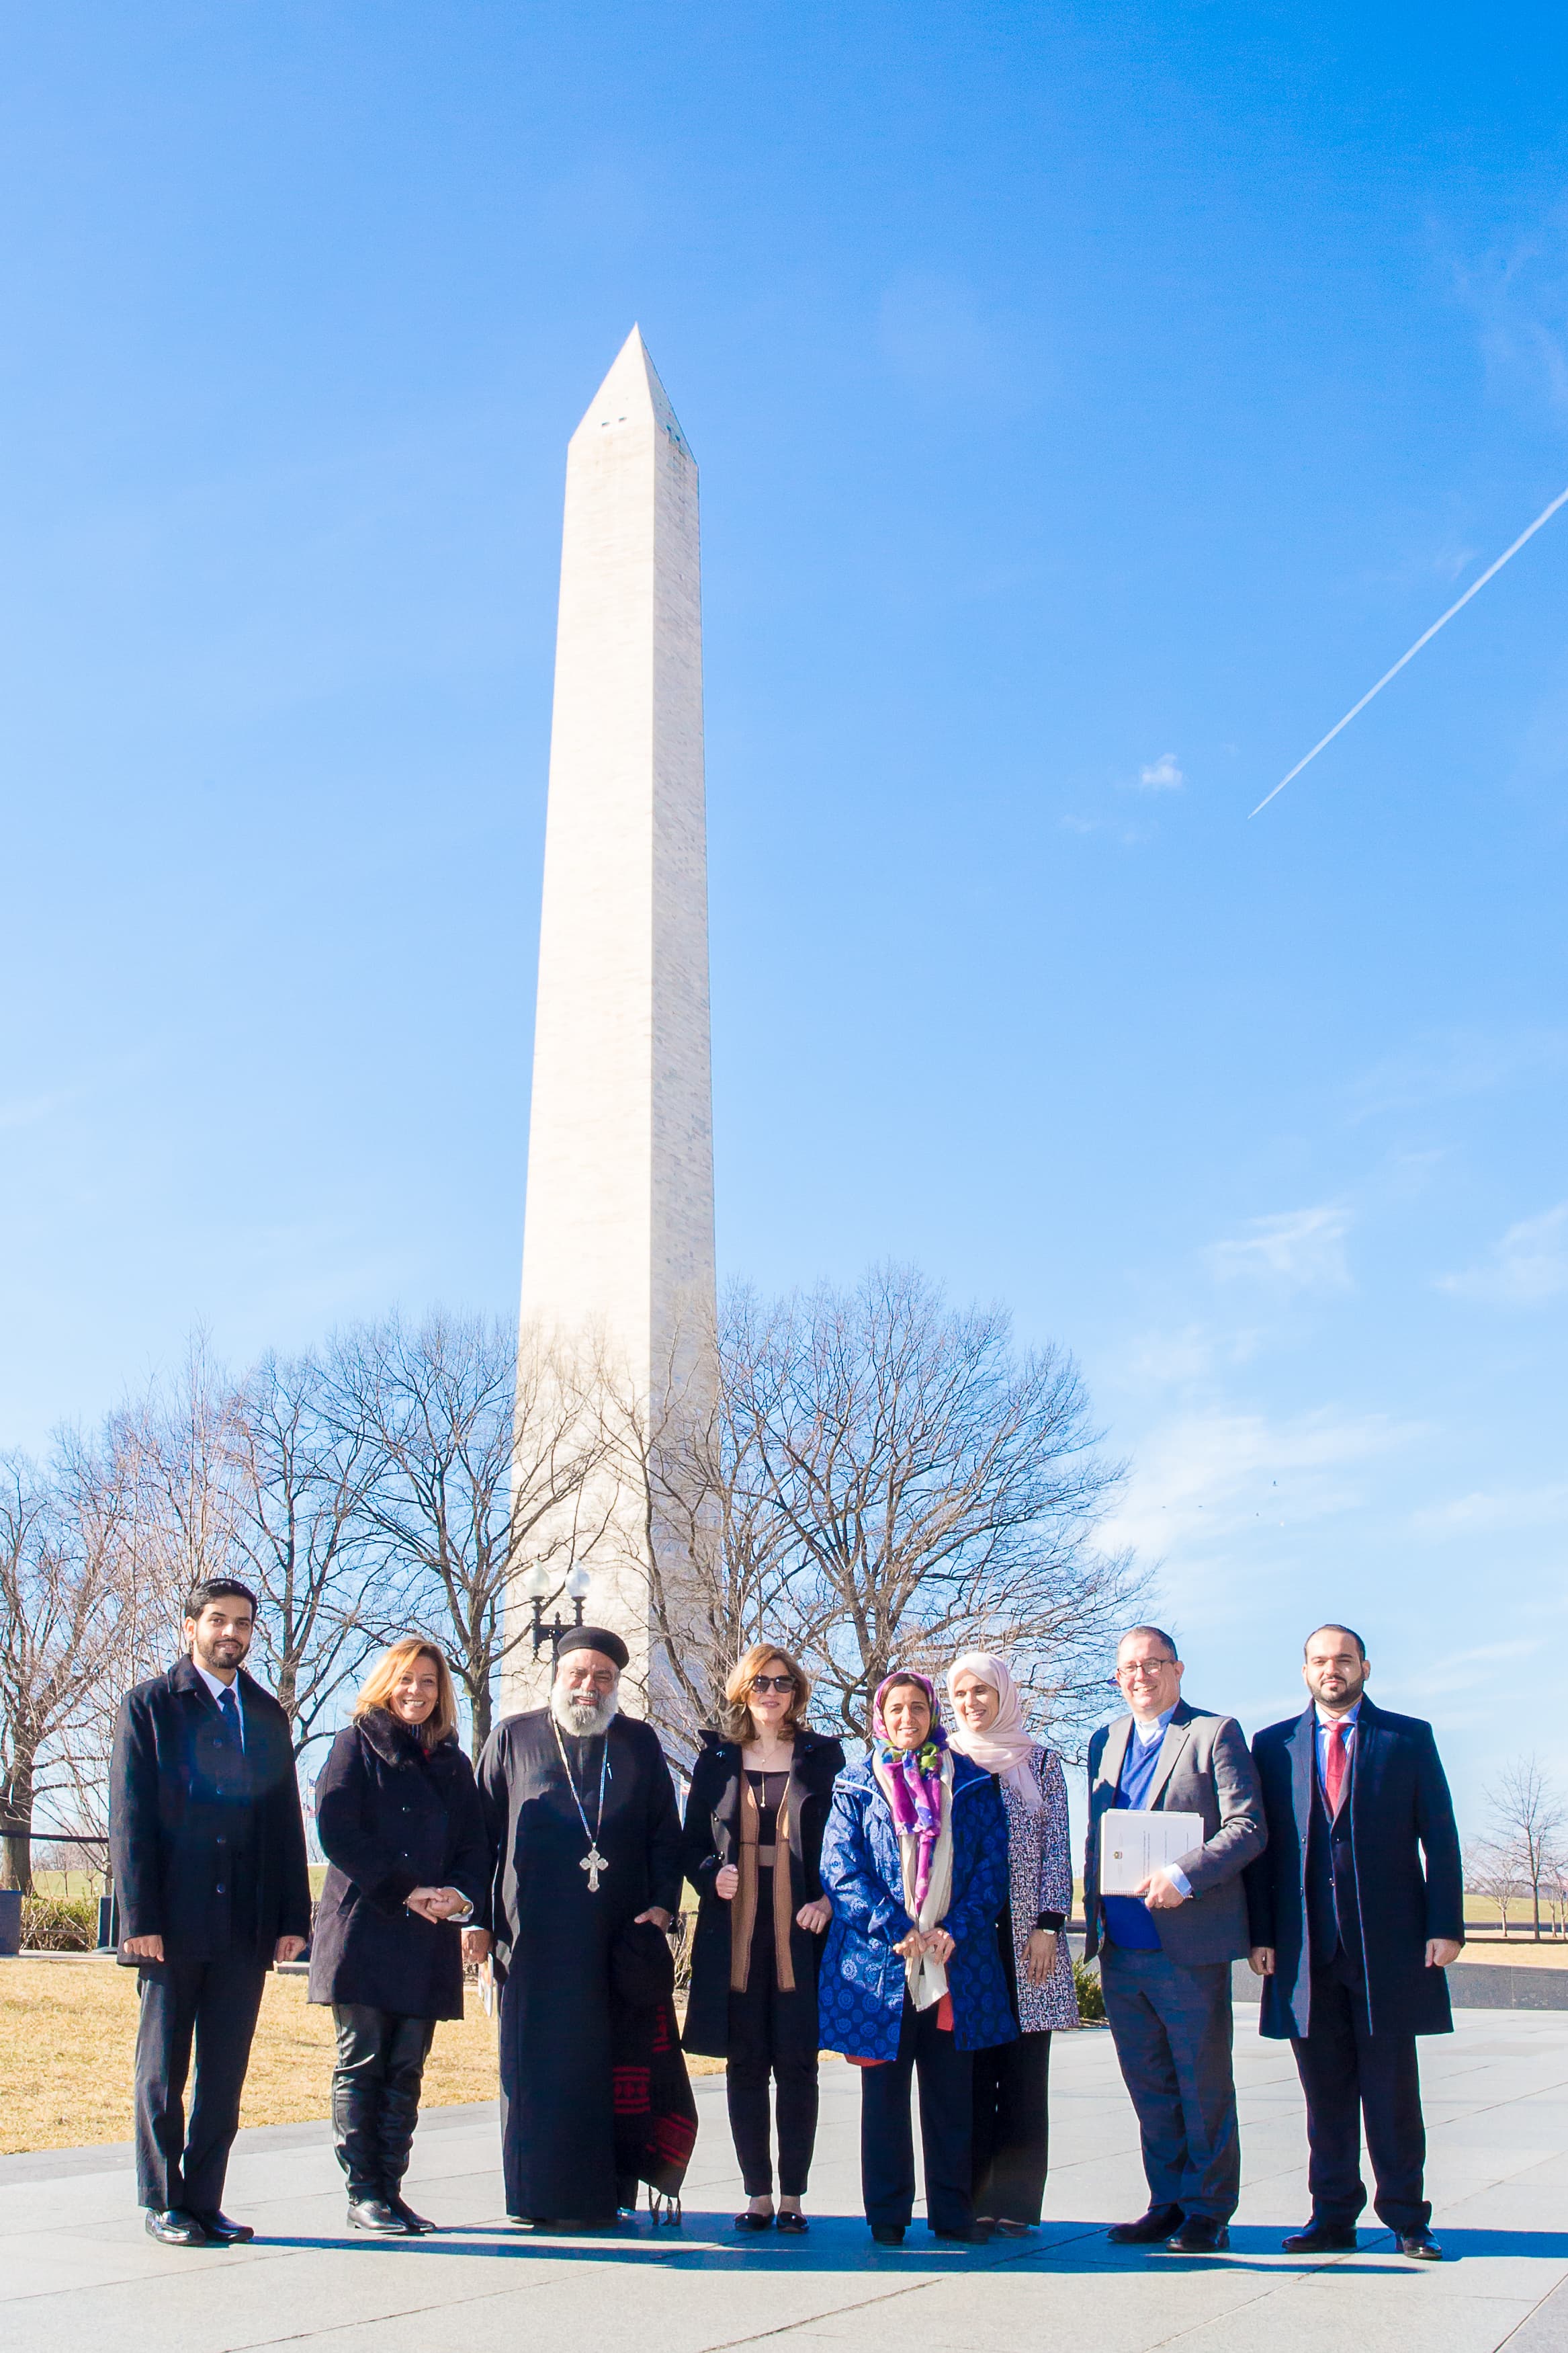
[[[252,2247],[181,2254],[134,2209],[129,2151],[0,2158],[0,2344],[7,2353],[1568,2353],[1568,2019],[1465,2014],[1422,2045],[1434,2228],[1448,2261],[1418,2266],[1363,2233],[1356,2257],[1300,2264],[1279,2238],[1307,2217],[1305,2139],[1288,2049],[1237,2035],[1246,2193],[1232,2254],[1173,2261],[1105,2245],[1143,2209],[1131,2111],[1107,2033],[1058,2035],[1046,2226],[1018,2249],[936,2247],[922,2224],[872,2249],[858,2217],[858,2080],[823,2068],[823,2132],[804,2240],[738,2242],[743,2202],[724,2082],[696,2085],[703,2129],[684,2231],[646,2214],[614,2240],[508,2233],[491,2108],[437,2108],[409,2188],[449,2228],[378,2245],[343,2231],[320,2125],[242,2137],[228,2209]]]

